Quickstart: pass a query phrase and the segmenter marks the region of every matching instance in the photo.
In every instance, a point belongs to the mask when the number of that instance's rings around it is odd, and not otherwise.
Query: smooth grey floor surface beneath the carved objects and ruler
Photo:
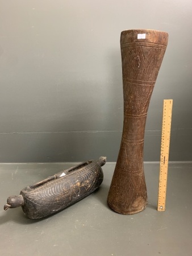
[[[122,215],[107,206],[115,163],[103,166],[101,187],[41,220],[22,208],[3,210],[10,195],[74,163],[0,164],[0,255],[192,255],[192,162],[169,164],[165,212],[157,212],[158,163],[145,163],[148,207]]]

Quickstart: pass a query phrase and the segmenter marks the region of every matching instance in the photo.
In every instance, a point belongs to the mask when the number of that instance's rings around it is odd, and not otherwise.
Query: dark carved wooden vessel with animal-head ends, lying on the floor
[[[43,218],[90,195],[103,181],[106,157],[63,170],[10,196],[4,209],[22,207],[28,218]]]

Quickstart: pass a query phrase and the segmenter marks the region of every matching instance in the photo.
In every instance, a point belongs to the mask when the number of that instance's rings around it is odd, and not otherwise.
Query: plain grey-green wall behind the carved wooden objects
[[[120,32],[167,31],[144,160],[160,159],[173,98],[170,160],[192,160],[190,0],[0,1],[0,162],[116,161],[123,127]]]

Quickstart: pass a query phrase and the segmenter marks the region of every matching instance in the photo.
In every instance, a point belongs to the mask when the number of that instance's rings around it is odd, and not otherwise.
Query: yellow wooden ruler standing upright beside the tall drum
[[[158,203],[157,210],[165,210],[166,185],[168,179],[170,129],[172,124],[173,100],[164,100],[162,112],[162,134],[161,134],[161,156],[160,156],[160,175],[158,184]]]

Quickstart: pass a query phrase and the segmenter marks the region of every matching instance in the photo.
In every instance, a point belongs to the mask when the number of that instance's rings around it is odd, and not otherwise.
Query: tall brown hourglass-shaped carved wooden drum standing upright
[[[137,39],[138,34],[145,38]],[[168,34],[157,30],[126,30],[120,37],[124,122],[120,150],[108,205],[122,214],[147,206],[143,168],[144,131],[148,106],[168,44]]]

